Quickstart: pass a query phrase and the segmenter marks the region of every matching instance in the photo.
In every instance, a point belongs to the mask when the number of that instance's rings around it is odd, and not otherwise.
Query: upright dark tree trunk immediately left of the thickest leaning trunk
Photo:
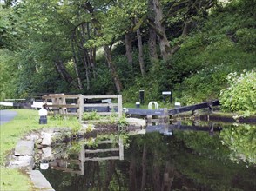
[[[150,11],[150,14],[148,16],[149,20],[154,23],[154,5],[153,0],[148,1],[148,8]],[[149,40],[148,40],[148,48],[151,60],[158,60],[158,52],[157,52],[157,33],[155,30],[152,29],[152,27],[149,28]]]

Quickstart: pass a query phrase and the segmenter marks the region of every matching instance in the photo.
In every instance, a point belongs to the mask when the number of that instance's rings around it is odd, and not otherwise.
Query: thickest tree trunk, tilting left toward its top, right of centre
[[[171,55],[171,47],[166,37],[165,26],[162,23],[163,10],[159,0],[153,0],[153,7],[155,11],[155,24],[156,24],[156,28],[158,29],[158,43],[159,43],[161,55],[165,60],[168,56]]]

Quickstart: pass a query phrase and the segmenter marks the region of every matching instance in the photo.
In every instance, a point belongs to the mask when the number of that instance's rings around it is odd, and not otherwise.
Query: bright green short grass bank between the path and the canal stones
[[[77,127],[79,123],[76,119],[63,120],[62,118],[49,118],[48,124],[38,124],[37,110],[29,109],[14,109],[17,111],[17,116],[11,122],[0,126],[0,162],[1,162],[1,185],[0,190],[35,190],[32,188],[28,176],[22,174],[17,169],[5,168],[6,156],[12,148],[15,148],[17,141],[24,135],[29,134],[32,130],[40,128],[52,127]]]

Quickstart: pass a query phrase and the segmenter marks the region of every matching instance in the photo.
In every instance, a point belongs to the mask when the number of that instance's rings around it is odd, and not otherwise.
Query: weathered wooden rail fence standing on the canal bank
[[[59,115],[77,115],[79,122],[82,122],[82,116],[85,111],[97,110],[104,107],[108,111],[98,112],[98,115],[111,115],[113,113],[122,116],[122,95],[64,95],[50,94],[42,96],[44,102],[51,100],[52,105],[49,105],[54,114]],[[104,99],[106,102],[103,102]],[[117,99],[117,102],[112,102],[112,99]],[[85,100],[85,102],[84,102]],[[93,100],[96,100],[93,102]],[[102,101],[102,102],[101,102]]]

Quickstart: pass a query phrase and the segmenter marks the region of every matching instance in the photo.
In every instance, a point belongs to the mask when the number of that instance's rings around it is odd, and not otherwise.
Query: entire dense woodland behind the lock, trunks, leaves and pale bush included
[[[0,1],[1,100],[122,94],[256,110],[255,0]],[[253,70],[254,69],[254,70]],[[231,99],[232,98],[232,99]]]

